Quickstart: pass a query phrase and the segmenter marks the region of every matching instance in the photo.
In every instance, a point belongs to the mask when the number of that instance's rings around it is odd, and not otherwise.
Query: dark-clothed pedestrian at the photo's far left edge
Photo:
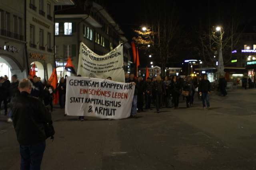
[[[6,77],[0,77],[0,108],[4,102],[4,115],[7,115],[10,81]]]

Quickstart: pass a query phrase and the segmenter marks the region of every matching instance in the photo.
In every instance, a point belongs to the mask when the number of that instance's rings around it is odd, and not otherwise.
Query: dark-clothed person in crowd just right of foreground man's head
[[[32,83],[33,86],[31,90],[31,96],[34,96],[39,100],[43,100],[44,85],[42,84],[42,82],[39,81],[39,78],[37,76],[33,77]]]

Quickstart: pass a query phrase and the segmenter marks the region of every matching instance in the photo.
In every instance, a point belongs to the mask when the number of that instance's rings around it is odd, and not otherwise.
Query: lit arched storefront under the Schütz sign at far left
[[[16,74],[19,79],[27,76],[25,42],[0,37],[0,76],[9,78]]]

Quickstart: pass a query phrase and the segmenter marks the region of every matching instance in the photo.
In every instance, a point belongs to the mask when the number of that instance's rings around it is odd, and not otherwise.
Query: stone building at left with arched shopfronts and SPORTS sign
[[[54,6],[72,0],[8,0],[0,3],[0,76],[26,78],[32,64],[48,79],[55,66]]]

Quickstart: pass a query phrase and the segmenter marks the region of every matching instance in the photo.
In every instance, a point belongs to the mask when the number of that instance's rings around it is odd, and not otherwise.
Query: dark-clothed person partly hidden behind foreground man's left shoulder
[[[14,75],[12,75],[12,83],[10,84],[10,88],[9,88],[10,100],[12,100],[12,98],[14,98],[20,94],[18,86],[19,86],[18,77],[16,74],[14,74]],[[12,112],[9,111],[9,115],[8,115],[8,119],[7,119],[7,122],[9,122],[9,123],[12,122],[11,116],[12,116]]]

